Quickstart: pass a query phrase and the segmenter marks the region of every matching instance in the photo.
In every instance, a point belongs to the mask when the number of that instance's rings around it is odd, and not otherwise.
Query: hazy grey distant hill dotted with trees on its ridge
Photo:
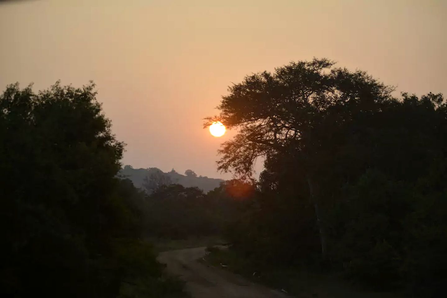
[[[208,178],[207,176],[197,176],[193,171],[187,170],[187,175],[177,173],[174,169],[171,172],[162,172],[159,168],[132,168],[130,165],[124,166],[118,174],[130,179],[135,187],[143,189],[143,180],[152,174],[162,174],[169,177],[173,184],[180,184],[184,187],[198,187],[204,193],[219,187],[225,180]]]

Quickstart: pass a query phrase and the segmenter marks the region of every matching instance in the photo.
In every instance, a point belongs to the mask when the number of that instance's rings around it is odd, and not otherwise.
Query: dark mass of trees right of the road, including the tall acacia
[[[247,76],[208,120],[239,128],[219,168],[265,170],[227,232],[255,269],[320,268],[375,290],[447,282],[447,105],[326,59]],[[208,123],[208,122],[207,122]]]

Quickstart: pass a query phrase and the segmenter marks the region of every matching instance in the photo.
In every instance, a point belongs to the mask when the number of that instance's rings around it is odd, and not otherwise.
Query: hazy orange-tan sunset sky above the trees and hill
[[[202,118],[227,86],[326,57],[397,91],[447,95],[444,0],[30,0],[0,4],[0,88],[94,80],[123,163],[216,172]]]

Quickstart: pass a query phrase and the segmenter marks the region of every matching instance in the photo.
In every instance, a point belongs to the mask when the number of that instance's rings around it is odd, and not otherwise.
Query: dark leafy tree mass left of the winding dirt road
[[[123,143],[94,85],[0,96],[2,297],[165,297],[141,193],[116,178]],[[144,197],[144,196],[143,196]]]

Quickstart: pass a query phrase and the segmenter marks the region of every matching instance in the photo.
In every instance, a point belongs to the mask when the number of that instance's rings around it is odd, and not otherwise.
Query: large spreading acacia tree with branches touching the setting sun
[[[234,139],[219,150],[219,170],[247,178],[262,156],[266,159],[262,176],[268,177],[271,161],[288,156],[288,168],[302,172],[306,181],[323,255],[326,239],[319,197],[327,170],[325,160],[331,155],[326,145],[338,142],[335,128],[350,122],[356,111],[377,111],[384,103],[396,101],[392,87],[366,72],[333,66],[328,59],[313,59],[292,62],[273,73],[246,76],[229,87],[229,94],[218,106],[221,113],[205,123],[218,120],[238,129]]]

